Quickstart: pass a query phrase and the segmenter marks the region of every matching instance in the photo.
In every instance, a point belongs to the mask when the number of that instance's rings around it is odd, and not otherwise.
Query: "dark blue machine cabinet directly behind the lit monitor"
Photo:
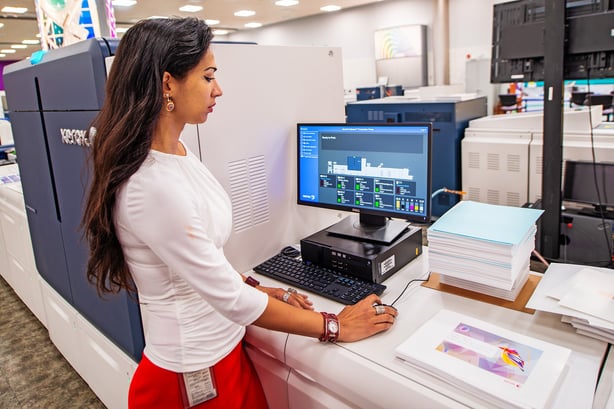
[[[461,189],[461,139],[469,121],[486,115],[486,97],[465,101],[374,99],[346,105],[348,123],[433,123],[433,192]],[[459,200],[449,193],[433,198],[433,216],[441,216]]]

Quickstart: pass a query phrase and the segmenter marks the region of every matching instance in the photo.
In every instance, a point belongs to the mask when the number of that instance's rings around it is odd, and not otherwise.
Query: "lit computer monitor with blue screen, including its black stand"
[[[391,243],[430,220],[430,123],[299,123],[297,138],[298,204],[358,213],[329,233]]]

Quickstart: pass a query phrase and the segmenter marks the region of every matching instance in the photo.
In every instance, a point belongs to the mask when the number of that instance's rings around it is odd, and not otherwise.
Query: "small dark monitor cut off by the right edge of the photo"
[[[565,161],[563,200],[614,206],[614,163]]]

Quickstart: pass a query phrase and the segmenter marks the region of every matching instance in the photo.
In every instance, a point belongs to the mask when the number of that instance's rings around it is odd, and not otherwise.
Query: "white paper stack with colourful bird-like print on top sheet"
[[[411,366],[499,408],[546,408],[571,351],[448,310],[395,350]]]

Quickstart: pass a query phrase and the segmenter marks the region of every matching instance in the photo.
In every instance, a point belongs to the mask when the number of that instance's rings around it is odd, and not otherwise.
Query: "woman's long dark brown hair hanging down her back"
[[[142,20],[119,42],[105,101],[92,123],[93,176],[81,221],[90,252],[87,278],[99,295],[135,290],[113,223],[116,194],[151,148],[164,103],[164,72],[184,78],[212,38],[202,20],[169,18]]]

